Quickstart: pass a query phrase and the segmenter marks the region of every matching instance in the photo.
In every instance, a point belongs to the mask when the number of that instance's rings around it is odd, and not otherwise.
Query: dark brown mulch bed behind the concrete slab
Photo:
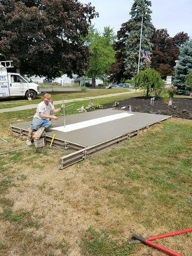
[[[192,119],[192,100],[190,98],[173,98],[172,105],[168,106],[162,100],[155,100],[151,105],[151,98],[136,97],[119,101],[117,108],[126,107],[124,109],[127,110],[129,105],[132,106],[132,111],[135,112],[165,114],[182,119]],[[111,107],[114,107],[114,103],[104,104],[104,108]]]

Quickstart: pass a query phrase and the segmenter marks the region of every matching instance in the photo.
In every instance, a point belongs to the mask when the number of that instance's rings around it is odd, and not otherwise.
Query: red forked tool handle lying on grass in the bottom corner
[[[179,254],[178,252],[172,251],[171,249],[162,247],[161,245],[155,244],[156,239],[161,239],[161,238],[167,238],[170,236],[175,236],[175,235],[181,235],[183,233],[187,233],[187,232],[192,232],[192,228],[188,228],[188,229],[183,229],[181,231],[174,231],[171,233],[164,233],[161,235],[156,235],[156,236],[152,236],[150,238],[142,238],[141,236],[138,235],[133,235],[133,239],[139,240],[140,242],[142,242],[143,244],[149,245],[150,247],[153,247],[155,249],[158,249],[159,251],[165,252],[168,255],[171,256],[182,256],[182,254]]]

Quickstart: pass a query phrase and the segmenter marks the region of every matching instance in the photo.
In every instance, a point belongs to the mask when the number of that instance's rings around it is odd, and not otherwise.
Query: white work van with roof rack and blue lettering
[[[39,85],[29,82],[20,73],[8,72],[9,68],[14,68],[11,60],[0,61],[0,98],[21,96],[34,100],[41,93]]]

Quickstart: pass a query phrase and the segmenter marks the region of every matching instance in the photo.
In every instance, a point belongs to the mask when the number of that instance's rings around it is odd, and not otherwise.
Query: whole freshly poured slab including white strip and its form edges
[[[111,143],[111,141],[118,142],[126,139],[126,136],[129,137],[129,134],[133,132],[136,135],[139,130],[169,117],[171,116],[137,112],[130,114],[127,111],[113,108],[73,114],[65,117],[65,127],[63,117],[52,120],[52,127],[46,132],[46,140],[49,143],[55,134],[55,143],[65,144],[65,147],[62,146],[62,148],[78,152],[78,150],[92,147],[92,149],[97,148],[97,152],[99,152],[113,145],[114,143]],[[30,122],[12,124],[10,129],[13,132],[27,135],[29,126]],[[119,137],[123,137],[123,139],[116,140]],[[72,145],[72,147],[70,148],[68,145]],[[102,148],[100,145],[108,146],[103,146]],[[83,153],[82,159],[87,158],[86,152]],[[89,156],[91,156],[91,153],[89,153]],[[81,161],[80,158],[79,156],[79,161]],[[75,162],[78,161],[73,161],[73,163]]]

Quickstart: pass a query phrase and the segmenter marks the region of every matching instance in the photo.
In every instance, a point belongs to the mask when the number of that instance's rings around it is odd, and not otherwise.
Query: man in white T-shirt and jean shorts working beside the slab
[[[30,130],[28,131],[28,137],[26,141],[27,146],[33,145],[33,132],[38,130],[40,127],[48,129],[52,125],[52,122],[50,120],[58,119],[58,117],[53,116],[53,114],[58,113],[65,107],[64,105],[62,105],[60,108],[55,109],[52,103],[52,96],[50,94],[44,94],[43,101],[38,104],[36,114],[34,114],[33,120],[30,124]]]

